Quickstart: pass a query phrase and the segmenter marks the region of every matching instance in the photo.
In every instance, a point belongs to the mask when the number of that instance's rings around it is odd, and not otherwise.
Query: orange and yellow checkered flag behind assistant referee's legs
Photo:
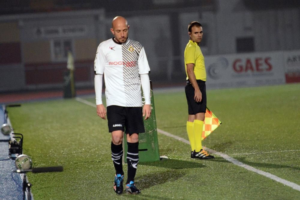
[[[211,132],[220,126],[222,122],[206,107],[205,119],[203,122],[202,140],[204,140]]]

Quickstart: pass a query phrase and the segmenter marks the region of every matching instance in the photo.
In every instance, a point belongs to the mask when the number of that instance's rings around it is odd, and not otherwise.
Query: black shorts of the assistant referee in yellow
[[[197,84],[202,93],[202,100],[200,102],[196,102],[194,100],[195,89],[193,85],[187,80],[187,85],[185,86],[185,96],[187,97],[187,107],[189,115],[196,115],[199,112],[206,112],[206,87],[205,81],[197,80]]]

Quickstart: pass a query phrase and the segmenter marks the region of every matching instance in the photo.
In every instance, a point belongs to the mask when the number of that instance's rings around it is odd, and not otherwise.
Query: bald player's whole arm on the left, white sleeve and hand
[[[105,68],[105,57],[101,51],[101,45],[98,46],[96,57],[94,61],[95,70],[95,94],[96,94],[96,107],[97,115],[102,119],[106,119],[106,109],[102,103],[102,79]]]

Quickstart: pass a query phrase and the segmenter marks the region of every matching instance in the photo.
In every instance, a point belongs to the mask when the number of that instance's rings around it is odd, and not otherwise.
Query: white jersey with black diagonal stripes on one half
[[[148,74],[150,67],[139,42],[128,39],[121,44],[109,39],[100,43],[94,68],[96,74],[104,73],[107,106],[142,106],[140,74]]]

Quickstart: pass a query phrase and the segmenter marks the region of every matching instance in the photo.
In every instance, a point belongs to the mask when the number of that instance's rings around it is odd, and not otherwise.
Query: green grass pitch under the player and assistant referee
[[[208,90],[208,107],[222,121],[202,145],[300,185],[300,84]],[[94,103],[94,98],[86,98]],[[157,127],[187,138],[184,89],[154,88]],[[96,109],[70,100],[9,107],[23,153],[34,167],[63,172],[27,173],[34,199],[299,199],[300,192],[236,166],[222,157],[190,159],[190,146],[158,133],[160,155],[139,163],[140,195],[113,192],[114,167],[107,121]],[[251,154],[249,154],[251,153]],[[254,154],[252,154],[254,153]],[[125,176],[127,164],[123,165]],[[125,177],[126,179],[126,177]]]

